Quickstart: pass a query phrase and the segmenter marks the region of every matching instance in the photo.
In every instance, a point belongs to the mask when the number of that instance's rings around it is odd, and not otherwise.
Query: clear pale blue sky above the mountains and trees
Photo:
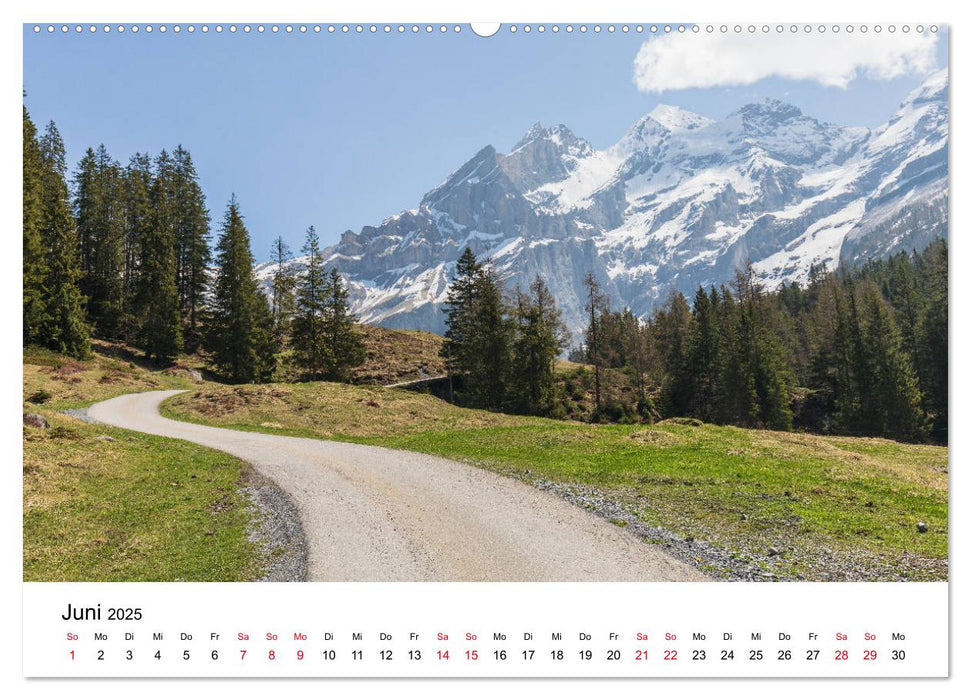
[[[691,37],[683,37],[690,40]],[[482,146],[507,151],[534,122],[563,123],[603,148],[659,103],[717,118],[783,99],[844,125],[877,126],[920,76],[847,89],[778,76],[749,85],[645,92],[645,35],[35,34],[24,29],[27,108],[53,119],[69,163],[104,143],[125,162],[181,143],[214,223],[240,200],[257,259],[307,226],[325,243],[417,206]],[[946,36],[933,49],[946,65]],[[863,59],[861,59],[863,60]]]

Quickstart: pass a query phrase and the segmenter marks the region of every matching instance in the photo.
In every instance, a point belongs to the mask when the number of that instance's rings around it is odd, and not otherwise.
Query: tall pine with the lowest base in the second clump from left
[[[151,219],[139,240],[138,345],[159,363],[172,360],[182,350],[175,280],[172,167],[172,159],[163,150],[155,161],[155,179],[149,193]]]

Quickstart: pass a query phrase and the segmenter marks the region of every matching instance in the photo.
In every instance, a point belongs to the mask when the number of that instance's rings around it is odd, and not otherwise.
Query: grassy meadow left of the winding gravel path
[[[26,581],[236,581],[264,568],[242,492],[247,466],[178,440],[90,425],[60,411],[119,394],[190,388],[190,362],[163,370],[118,344],[89,360],[24,350]]]

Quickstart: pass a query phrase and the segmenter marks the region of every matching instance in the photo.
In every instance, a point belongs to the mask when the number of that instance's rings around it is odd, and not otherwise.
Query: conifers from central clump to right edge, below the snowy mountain
[[[689,417],[773,430],[947,440],[947,244],[856,270],[813,266],[769,291],[751,268],[729,285],[671,293],[646,319],[585,279],[587,323],[570,358],[592,374],[590,420]],[[561,417],[568,342],[537,279],[508,297],[466,249],[445,303],[442,355],[461,404]],[[608,398],[610,372],[634,388]]]

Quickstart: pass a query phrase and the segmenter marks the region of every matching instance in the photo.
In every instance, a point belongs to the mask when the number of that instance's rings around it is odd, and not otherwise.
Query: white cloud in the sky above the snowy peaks
[[[846,88],[857,77],[929,73],[936,44],[937,34],[914,31],[666,34],[637,52],[634,83],[644,92],[663,92],[780,77]]]

